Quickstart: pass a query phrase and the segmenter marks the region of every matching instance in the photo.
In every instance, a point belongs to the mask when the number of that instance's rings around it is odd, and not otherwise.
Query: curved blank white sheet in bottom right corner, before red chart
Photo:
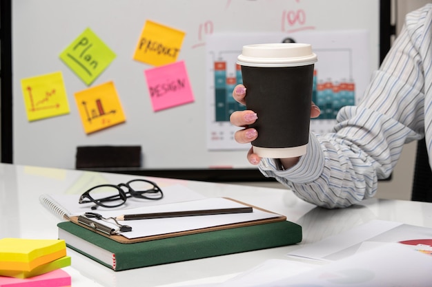
[[[388,243],[274,282],[272,286],[429,287],[431,270],[431,255],[413,251],[404,244]]]

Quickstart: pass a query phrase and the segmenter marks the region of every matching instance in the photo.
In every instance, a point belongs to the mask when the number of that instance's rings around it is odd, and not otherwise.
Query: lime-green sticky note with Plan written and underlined
[[[90,85],[115,59],[115,53],[87,28],[61,52],[60,59]]]

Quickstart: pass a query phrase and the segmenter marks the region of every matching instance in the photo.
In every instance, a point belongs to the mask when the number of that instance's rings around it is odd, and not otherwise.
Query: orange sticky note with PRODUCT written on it
[[[185,33],[146,21],[133,59],[157,67],[177,61]]]

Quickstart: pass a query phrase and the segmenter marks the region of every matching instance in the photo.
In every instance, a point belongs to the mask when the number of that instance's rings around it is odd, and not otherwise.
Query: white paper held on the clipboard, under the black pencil
[[[159,213],[172,211],[195,211],[209,209],[232,209],[244,207],[244,204],[226,198],[205,198],[202,200],[192,200],[187,202],[177,202],[173,204],[161,204],[157,206],[144,206],[137,209],[129,209],[124,213],[119,211],[103,211],[100,213],[104,217],[117,217],[126,214]],[[133,211],[133,212],[132,212]],[[121,212],[121,211],[120,211]],[[199,215],[186,217],[157,218],[150,220],[126,220],[119,221],[120,224],[132,226],[132,231],[121,233],[126,238],[137,238],[152,235],[161,235],[181,231],[191,231],[201,228],[222,226],[240,222],[251,222],[267,218],[278,217],[278,214],[253,209],[251,213],[230,213],[220,215]],[[97,222],[97,220],[95,220]],[[107,222],[104,222],[108,225]],[[112,225],[112,228],[116,228]]]

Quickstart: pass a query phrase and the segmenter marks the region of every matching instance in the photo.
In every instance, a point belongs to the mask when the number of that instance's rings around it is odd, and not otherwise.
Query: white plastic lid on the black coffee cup
[[[267,43],[243,46],[237,64],[249,67],[297,67],[317,61],[310,44]]]

